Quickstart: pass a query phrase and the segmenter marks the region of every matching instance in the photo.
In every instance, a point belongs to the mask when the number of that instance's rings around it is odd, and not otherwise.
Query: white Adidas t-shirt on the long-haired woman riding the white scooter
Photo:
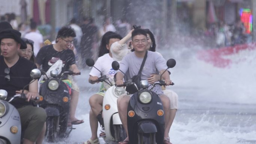
[[[117,73],[117,71],[113,70],[112,68],[113,61],[114,59],[110,57],[109,53],[107,53],[97,59],[97,61],[94,64],[94,67],[98,68],[98,70],[101,71],[102,75],[106,75],[112,84],[115,84],[114,75]],[[100,71],[98,71],[94,67],[92,67],[92,70],[89,73],[89,75],[100,77]],[[108,89],[110,86],[107,83],[104,83],[104,87]]]

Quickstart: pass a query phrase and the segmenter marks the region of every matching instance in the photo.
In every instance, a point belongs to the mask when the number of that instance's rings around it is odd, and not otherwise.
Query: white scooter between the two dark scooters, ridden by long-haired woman
[[[89,67],[94,67],[94,60],[86,59],[86,64]],[[106,142],[123,141],[127,136],[118,115],[117,99],[119,98],[119,96],[125,94],[125,89],[112,85],[110,80],[106,76],[102,76],[102,74],[97,81],[92,81],[91,83],[94,82],[106,82],[111,86],[109,89],[107,89],[103,98],[103,120],[104,130],[106,134],[106,138],[104,140]]]

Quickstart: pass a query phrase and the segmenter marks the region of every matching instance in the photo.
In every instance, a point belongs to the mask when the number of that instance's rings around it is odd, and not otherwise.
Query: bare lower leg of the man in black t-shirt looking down
[[[79,98],[79,92],[72,89],[71,99],[70,99],[70,108],[69,108],[69,121],[73,122],[76,119],[75,113],[76,113],[76,107],[78,103]]]

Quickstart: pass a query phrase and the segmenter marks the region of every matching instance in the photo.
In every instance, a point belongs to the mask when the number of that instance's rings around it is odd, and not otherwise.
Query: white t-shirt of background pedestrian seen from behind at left
[[[43,35],[38,32],[31,31],[25,34],[25,38],[34,41],[34,55],[36,56],[40,50],[40,44],[43,43]]]

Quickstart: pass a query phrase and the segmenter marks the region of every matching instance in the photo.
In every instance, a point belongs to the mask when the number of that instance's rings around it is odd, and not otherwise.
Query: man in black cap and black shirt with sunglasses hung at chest
[[[21,33],[13,29],[0,31],[0,89],[7,91],[9,100],[16,91],[23,89],[31,82],[30,72],[36,65],[18,55],[19,49],[27,48],[26,43],[21,39]],[[30,99],[36,98],[38,94],[38,80],[25,88],[27,101],[15,99],[12,101],[19,111],[22,130],[24,131],[24,143],[34,144],[46,121],[46,112],[43,108],[34,107]]]

